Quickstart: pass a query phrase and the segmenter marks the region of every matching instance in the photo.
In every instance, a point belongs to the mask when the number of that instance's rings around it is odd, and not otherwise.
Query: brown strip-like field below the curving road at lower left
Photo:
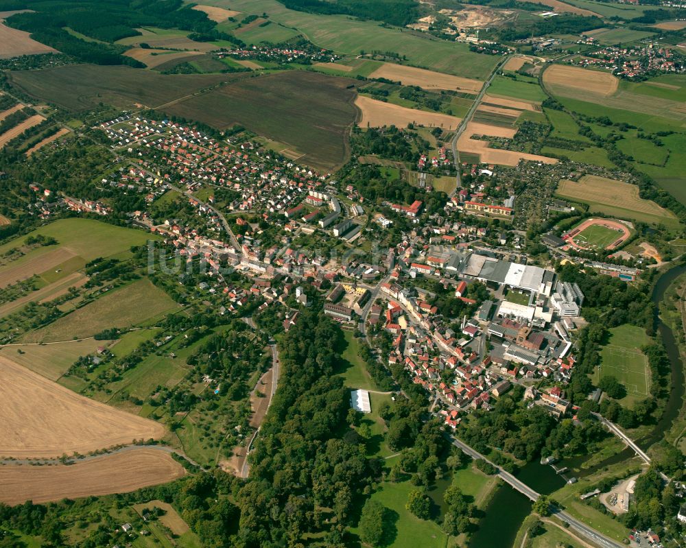
[[[0,466],[0,501],[13,505],[130,492],[185,475],[169,453],[134,449],[65,466]]]

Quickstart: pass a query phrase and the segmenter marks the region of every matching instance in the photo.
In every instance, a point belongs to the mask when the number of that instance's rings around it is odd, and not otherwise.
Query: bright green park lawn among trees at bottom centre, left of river
[[[372,495],[372,500],[379,501],[390,510],[388,547],[394,548],[445,548],[447,536],[434,521],[418,519],[405,509],[407,496],[415,487],[410,481],[392,483],[384,481]],[[359,502],[362,504],[362,501]],[[351,532],[359,534],[359,529]]]

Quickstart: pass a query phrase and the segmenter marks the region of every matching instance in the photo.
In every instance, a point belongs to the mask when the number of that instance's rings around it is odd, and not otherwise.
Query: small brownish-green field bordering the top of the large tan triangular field
[[[57,381],[80,356],[94,354],[99,346],[108,347],[111,343],[108,340],[83,339],[55,344],[2,346],[0,356],[38,373],[41,377]]]

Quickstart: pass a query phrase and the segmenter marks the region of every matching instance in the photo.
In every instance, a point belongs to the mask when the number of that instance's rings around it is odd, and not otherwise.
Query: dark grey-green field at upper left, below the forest
[[[95,108],[100,102],[119,108],[135,104],[155,107],[185,97],[201,88],[230,82],[239,74],[158,74],[130,67],[72,64],[40,71],[12,71],[11,84],[19,90],[73,112]]]

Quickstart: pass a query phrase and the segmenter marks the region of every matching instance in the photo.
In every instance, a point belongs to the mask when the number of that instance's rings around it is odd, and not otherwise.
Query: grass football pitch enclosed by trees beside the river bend
[[[650,367],[640,347],[651,339],[640,327],[622,325],[609,330],[608,343],[602,347],[602,364],[595,371],[594,381],[602,377],[616,377],[626,387],[626,397],[620,400],[632,405],[650,396]]]

